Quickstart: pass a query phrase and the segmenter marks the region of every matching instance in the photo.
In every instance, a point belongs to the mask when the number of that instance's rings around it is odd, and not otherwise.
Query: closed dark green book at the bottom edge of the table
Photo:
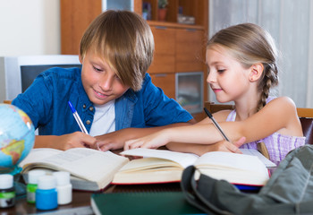
[[[182,192],[93,193],[91,208],[100,214],[205,214]]]

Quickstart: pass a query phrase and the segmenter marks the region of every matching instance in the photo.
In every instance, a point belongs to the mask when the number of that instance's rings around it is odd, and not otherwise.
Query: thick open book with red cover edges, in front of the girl
[[[250,151],[244,152],[251,154]],[[253,153],[258,154],[256,151]],[[224,179],[234,185],[263,186],[269,178],[264,162],[268,165],[271,163],[266,158],[262,162],[258,156],[224,151],[211,151],[199,157],[171,150],[141,148],[125,150],[121,154],[143,158],[132,159],[125,164],[114,175],[114,185],[180,182],[183,169],[194,165],[200,173]]]

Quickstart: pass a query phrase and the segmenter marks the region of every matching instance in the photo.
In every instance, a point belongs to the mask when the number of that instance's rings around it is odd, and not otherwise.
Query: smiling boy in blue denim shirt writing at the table
[[[153,52],[152,32],[140,15],[100,14],[80,41],[81,70],[49,69],[13,99],[13,105],[38,127],[34,147],[121,149],[125,141],[165,125],[194,123],[187,111],[152,84],[146,72]],[[68,101],[90,135],[80,132]]]

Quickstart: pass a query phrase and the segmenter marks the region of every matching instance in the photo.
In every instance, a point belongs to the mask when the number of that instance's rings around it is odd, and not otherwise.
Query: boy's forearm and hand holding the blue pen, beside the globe
[[[54,148],[69,150],[71,148],[96,148],[96,138],[81,132],[56,135],[36,135],[34,148]]]

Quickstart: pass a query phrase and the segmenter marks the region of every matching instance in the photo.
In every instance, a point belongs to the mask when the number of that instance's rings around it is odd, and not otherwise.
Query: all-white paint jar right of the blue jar
[[[57,171],[53,173],[56,178],[57,203],[59,205],[72,202],[72,184],[70,181],[70,173],[65,171]]]

